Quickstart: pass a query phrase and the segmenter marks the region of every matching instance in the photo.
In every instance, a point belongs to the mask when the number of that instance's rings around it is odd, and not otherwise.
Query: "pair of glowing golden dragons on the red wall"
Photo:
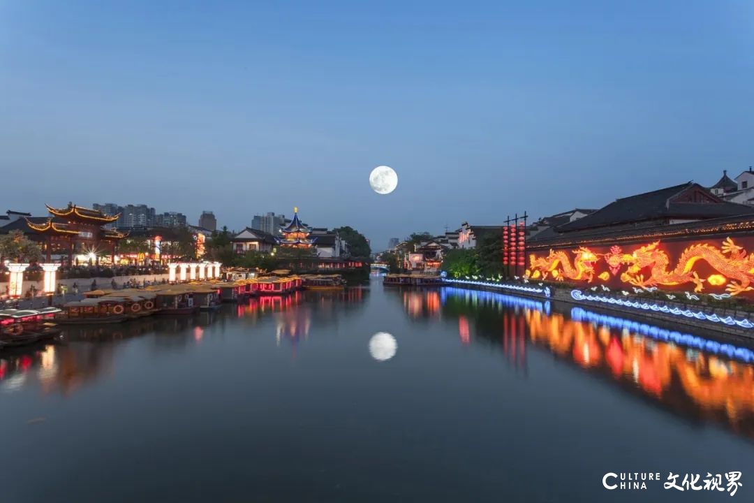
[[[608,280],[610,275],[620,274],[624,283],[642,288],[690,283],[694,284],[695,292],[701,292],[706,283],[713,287],[725,284],[725,290],[731,295],[754,290],[754,253],[746,253],[731,238],[726,238],[719,248],[706,243],[692,244],[683,250],[672,269],[669,269],[670,257],[659,245],[660,241],[655,241],[639,247],[633,253],[624,253],[621,247],[614,246],[609,253],[599,254],[580,247],[572,250],[573,262],[565,251],[550,250],[544,257],[530,255],[526,274],[534,279],[551,277],[556,281],[591,282],[596,262],[603,259],[609,271],[598,276],[603,281]],[[709,264],[716,274],[700,278],[694,270],[700,260]]]

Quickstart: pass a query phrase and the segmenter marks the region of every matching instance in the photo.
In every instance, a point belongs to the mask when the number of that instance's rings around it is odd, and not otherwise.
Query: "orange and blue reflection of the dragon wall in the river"
[[[441,296],[443,317],[458,317],[461,342],[497,343],[516,363],[525,363],[526,344],[547,348],[673,413],[754,438],[754,366],[653,337],[713,341],[712,335],[679,334],[570,306],[558,312],[550,302],[501,293],[444,288]]]

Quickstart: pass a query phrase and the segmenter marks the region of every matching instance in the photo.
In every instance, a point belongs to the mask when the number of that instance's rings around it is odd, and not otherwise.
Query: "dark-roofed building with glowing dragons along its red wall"
[[[618,199],[544,229],[526,274],[611,290],[746,294],[754,299],[754,207],[688,182]]]

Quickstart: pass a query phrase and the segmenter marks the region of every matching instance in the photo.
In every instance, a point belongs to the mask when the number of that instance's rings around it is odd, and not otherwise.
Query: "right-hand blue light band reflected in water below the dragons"
[[[594,313],[586,311],[583,308],[572,308],[571,317],[575,321],[588,321],[600,325],[607,325],[619,330],[630,330],[633,333],[639,333],[642,336],[648,336],[652,339],[664,342],[674,342],[679,345],[685,345],[690,348],[700,349],[708,353],[723,354],[730,358],[736,358],[746,363],[754,362],[754,351],[747,348],[737,348],[730,344],[721,344],[717,341],[704,339],[703,337],[692,336],[688,333],[680,333],[677,330],[667,330],[660,327],[654,327],[638,321],[630,321],[621,317],[609,316],[607,314]]]

